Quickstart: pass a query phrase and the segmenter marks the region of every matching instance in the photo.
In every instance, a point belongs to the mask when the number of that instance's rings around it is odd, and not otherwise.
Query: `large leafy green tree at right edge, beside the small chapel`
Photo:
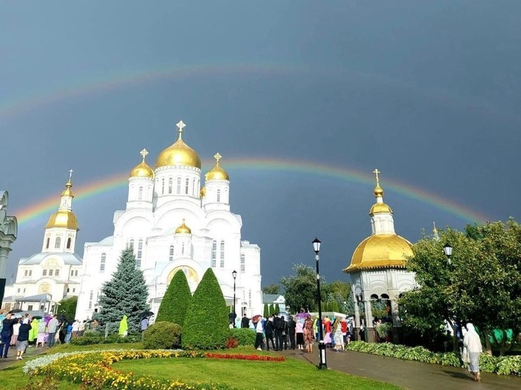
[[[428,333],[473,322],[488,342],[493,329],[513,329],[521,317],[521,226],[512,218],[467,225],[465,232],[448,228],[440,240],[423,237],[413,247],[409,270],[419,287],[400,300],[404,324]],[[442,246],[450,243],[448,261]],[[504,351],[501,351],[504,352]]]

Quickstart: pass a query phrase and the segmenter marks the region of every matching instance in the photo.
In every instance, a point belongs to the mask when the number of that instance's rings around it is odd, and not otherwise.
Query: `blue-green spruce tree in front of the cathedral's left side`
[[[140,330],[140,314],[149,310],[148,290],[140,269],[135,267],[131,248],[122,251],[112,279],[103,284],[98,301],[99,310],[94,317],[102,323],[119,322],[128,317],[129,333]]]

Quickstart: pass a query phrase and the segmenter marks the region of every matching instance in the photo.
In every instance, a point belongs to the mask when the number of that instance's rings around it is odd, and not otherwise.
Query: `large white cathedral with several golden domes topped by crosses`
[[[126,247],[134,250],[154,313],[177,271],[186,274],[193,293],[208,268],[230,306],[235,285],[237,315],[262,313],[260,248],[242,239],[242,218],[230,211],[230,177],[221,155],[215,154],[203,182],[200,157],[182,139],[184,126],[177,123],[178,139],[159,153],[155,169],[145,161],[148,152],[140,152],[142,161],[129,175],[126,207],[114,213],[114,234],[85,243],[78,320],[98,310],[101,287]]]

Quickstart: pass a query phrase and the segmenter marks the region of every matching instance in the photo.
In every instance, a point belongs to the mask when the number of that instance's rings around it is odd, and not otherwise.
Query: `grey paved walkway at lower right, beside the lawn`
[[[314,354],[304,354],[299,350],[279,353],[303,359],[314,365],[318,364],[318,348],[314,348]],[[481,373],[481,382],[474,382],[464,368],[381,357],[362,352],[328,350],[326,359],[328,368],[396,384],[408,390],[521,390],[521,378],[513,375]]]

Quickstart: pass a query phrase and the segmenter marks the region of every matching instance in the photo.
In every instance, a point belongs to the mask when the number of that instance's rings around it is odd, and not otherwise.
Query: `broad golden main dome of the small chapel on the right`
[[[405,268],[413,245],[397,234],[375,234],[358,245],[344,272],[361,269]]]

